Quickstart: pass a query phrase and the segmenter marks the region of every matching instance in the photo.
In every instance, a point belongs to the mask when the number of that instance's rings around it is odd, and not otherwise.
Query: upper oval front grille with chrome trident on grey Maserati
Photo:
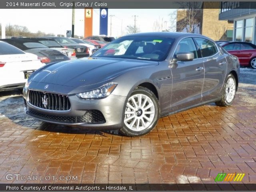
[[[67,111],[71,107],[66,95],[29,90],[28,97],[31,105],[42,109]]]

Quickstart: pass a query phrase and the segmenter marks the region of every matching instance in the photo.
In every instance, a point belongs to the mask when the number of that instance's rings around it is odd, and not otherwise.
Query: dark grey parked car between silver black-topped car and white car
[[[48,39],[53,39],[54,41],[58,42],[61,46],[64,48],[70,48],[74,49],[76,52],[76,57],[77,58],[83,58],[83,57],[88,57],[90,55],[88,47],[84,45],[80,45],[70,38],[66,37],[53,37],[53,36],[46,36],[42,38],[48,38]]]

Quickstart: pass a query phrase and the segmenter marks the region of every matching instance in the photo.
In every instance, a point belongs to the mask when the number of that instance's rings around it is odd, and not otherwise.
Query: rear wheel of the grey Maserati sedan
[[[222,90],[222,98],[220,101],[215,102],[217,106],[230,106],[232,105],[236,95],[236,78],[233,74],[229,74]]]

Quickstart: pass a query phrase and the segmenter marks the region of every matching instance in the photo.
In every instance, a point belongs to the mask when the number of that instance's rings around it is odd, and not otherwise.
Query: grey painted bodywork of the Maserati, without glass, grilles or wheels
[[[87,128],[114,129],[123,126],[124,107],[132,91],[141,84],[151,84],[160,104],[160,116],[167,116],[178,111],[220,100],[220,90],[228,74],[233,73],[239,80],[239,61],[216,43],[218,52],[207,58],[176,62],[173,56],[180,40],[188,37],[200,37],[186,33],[142,33],[135,36],[156,36],[175,38],[165,60],[145,61],[120,58],[83,58],[44,66],[28,79],[28,89],[68,95],[71,103],[69,111],[50,111],[35,108],[27,102],[29,108],[43,114],[61,116],[81,116],[86,110],[100,110],[106,118],[104,124],[72,124]],[[212,41],[213,42],[213,41]],[[202,70],[197,70],[201,68]],[[94,90],[114,82],[118,85],[110,96],[104,99],[81,100],[77,93]],[[48,85],[47,90],[44,88]],[[236,87],[237,87],[236,86]],[[27,100],[28,90],[23,96]],[[24,109],[29,114],[27,108]],[[34,117],[38,118],[38,117]],[[46,120],[38,118],[47,122]],[[65,123],[60,123],[65,124]]]

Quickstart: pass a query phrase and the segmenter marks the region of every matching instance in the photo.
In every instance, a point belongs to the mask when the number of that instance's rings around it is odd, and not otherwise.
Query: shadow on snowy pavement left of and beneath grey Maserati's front
[[[18,95],[14,95],[18,94]],[[104,136],[104,133],[117,134],[114,130],[88,130],[75,126],[52,124],[36,120],[24,114],[24,100],[20,92],[2,92],[0,95],[0,122],[8,118],[8,126],[17,124],[24,128],[31,128],[47,132],[58,132],[67,134],[97,134]]]

